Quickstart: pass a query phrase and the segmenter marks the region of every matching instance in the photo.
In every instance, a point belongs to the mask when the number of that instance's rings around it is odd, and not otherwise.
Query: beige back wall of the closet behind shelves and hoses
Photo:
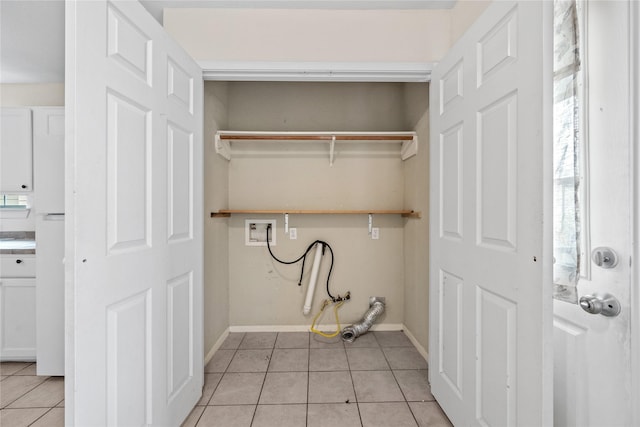
[[[234,130],[403,130],[403,84],[397,83],[230,83],[229,125]],[[305,147],[307,145],[305,144]],[[395,155],[372,155],[338,148],[333,166],[328,147],[302,150],[298,143],[271,143],[245,151],[229,163],[232,208],[400,209],[404,166]],[[273,153],[277,153],[275,156]],[[230,324],[233,326],[309,325],[302,306],[308,276],[297,286],[300,265],[273,262],[266,248],[245,246],[246,215],[229,221]],[[399,216],[374,216],[380,240],[371,240],[362,216],[290,215],[298,239],[289,240],[283,216],[257,216],[277,221],[274,252],[297,258],[316,239],[335,252],[332,294],[351,291],[340,310],[343,323],[358,320],[370,296],[387,298],[380,322],[401,324],[404,312],[403,223]],[[309,260],[306,271],[310,269]],[[323,258],[312,311],[327,297],[330,256]],[[333,323],[326,316],[324,323]]]

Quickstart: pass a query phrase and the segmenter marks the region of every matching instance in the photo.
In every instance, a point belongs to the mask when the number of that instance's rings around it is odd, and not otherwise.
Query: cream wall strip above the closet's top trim
[[[450,46],[448,10],[165,9],[198,61],[430,62]]]

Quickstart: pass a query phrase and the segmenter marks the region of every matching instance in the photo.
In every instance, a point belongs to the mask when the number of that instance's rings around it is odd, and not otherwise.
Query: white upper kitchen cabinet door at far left
[[[33,189],[31,110],[3,108],[0,121],[0,192],[31,191]]]

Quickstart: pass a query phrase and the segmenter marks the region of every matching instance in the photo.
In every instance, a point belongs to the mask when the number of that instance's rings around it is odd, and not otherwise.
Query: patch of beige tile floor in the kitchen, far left
[[[0,426],[63,427],[64,379],[36,376],[35,363],[2,362]]]

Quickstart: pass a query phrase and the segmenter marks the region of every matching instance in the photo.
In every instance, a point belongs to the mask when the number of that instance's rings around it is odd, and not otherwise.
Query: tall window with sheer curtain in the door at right
[[[554,3],[553,281],[554,298],[577,303],[584,241],[583,55],[581,9],[575,0]]]

